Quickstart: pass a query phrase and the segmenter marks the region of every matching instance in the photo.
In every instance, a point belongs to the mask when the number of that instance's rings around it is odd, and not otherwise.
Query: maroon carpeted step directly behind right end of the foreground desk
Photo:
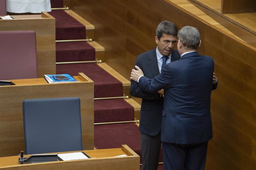
[[[94,147],[96,149],[119,148],[121,145],[128,145],[140,155],[140,131],[135,123],[94,126]]]

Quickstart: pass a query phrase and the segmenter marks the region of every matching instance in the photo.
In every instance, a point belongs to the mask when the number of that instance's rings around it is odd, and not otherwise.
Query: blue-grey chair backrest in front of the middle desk
[[[82,150],[79,98],[23,101],[25,153]]]

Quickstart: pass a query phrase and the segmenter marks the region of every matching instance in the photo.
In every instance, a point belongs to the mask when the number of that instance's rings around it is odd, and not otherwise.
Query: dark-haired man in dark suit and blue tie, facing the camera
[[[178,28],[170,21],[162,21],[156,29],[155,43],[157,48],[138,55],[138,65],[148,78],[154,78],[161,72],[163,56],[166,63],[180,58],[174,45],[177,41]],[[161,149],[161,122],[163,110],[163,90],[158,92],[141,91],[135,81],[131,81],[130,93],[142,98],[140,111],[142,170],[157,170]]]

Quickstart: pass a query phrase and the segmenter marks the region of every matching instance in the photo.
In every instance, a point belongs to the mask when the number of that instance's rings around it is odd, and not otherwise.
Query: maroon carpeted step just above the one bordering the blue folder
[[[85,41],[56,43],[56,62],[94,60],[95,48]]]

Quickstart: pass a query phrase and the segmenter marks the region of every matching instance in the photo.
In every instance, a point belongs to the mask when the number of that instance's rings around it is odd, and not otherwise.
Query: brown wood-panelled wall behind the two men
[[[183,11],[168,0],[73,0],[72,10],[95,26],[105,62],[130,77],[138,54],[155,48],[155,28],[163,20],[178,28],[197,27],[199,52],[215,61],[218,88],[212,92],[214,137],[207,170],[256,167],[256,49]]]

